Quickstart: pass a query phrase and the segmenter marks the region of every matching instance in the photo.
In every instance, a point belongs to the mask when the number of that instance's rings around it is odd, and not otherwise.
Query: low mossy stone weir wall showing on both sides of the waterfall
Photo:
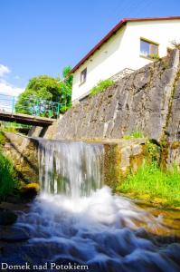
[[[19,180],[39,181],[38,141],[23,135],[5,132],[5,154],[14,162]],[[94,142],[94,141],[93,141]],[[137,170],[145,159],[144,139],[106,140],[104,145],[104,182],[112,189],[129,171]]]

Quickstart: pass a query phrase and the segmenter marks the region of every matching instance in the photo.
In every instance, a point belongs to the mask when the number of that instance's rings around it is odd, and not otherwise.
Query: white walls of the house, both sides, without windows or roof
[[[90,92],[99,80],[104,80],[125,68],[136,70],[152,62],[140,56],[140,37],[159,44],[159,56],[166,55],[171,41],[180,42],[180,20],[128,22],[117,34],[79,67],[74,73],[72,101]],[[81,71],[87,67],[87,79],[81,84]]]

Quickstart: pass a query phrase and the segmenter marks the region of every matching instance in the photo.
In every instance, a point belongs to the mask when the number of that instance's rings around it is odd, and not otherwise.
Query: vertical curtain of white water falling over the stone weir
[[[81,141],[39,141],[39,177],[46,193],[72,198],[101,188],[103,145]]]

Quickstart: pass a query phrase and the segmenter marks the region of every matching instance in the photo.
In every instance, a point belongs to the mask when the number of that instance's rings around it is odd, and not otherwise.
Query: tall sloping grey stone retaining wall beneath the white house
[[[179,108],[172,108],[178,65],[179,52],[173,51],[170,57],[150,63],[105,92],[80,102],[63,115],[54,139],[120,139],[141,131],[149,139],[160,141],[167,119],[175,114],[175,124],[170,121],[168,129],[175,131],[180,118]],[[174,137],[173,132],[170,137]]]

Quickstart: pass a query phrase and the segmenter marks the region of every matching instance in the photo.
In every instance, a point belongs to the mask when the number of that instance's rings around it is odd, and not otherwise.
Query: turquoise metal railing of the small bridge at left
[[[24,113],[33,116],[58,118],[62,109],[59,102],[46,101],[30,97],[24,100],[24,105],[18,103],[18,98],[0,93],[0,111],[11,114]]]

